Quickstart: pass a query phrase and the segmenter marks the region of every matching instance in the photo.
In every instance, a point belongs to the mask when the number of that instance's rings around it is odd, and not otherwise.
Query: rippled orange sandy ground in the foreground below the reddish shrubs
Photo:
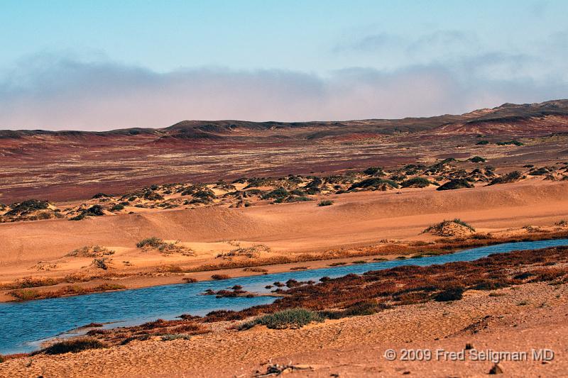
[[[372,316],[299,330],[222,328],[191,340],[134,341],[107,350],[35,356],[0,365],[0,377],[252,377],[269,362],[309,367],[293,377],[481,377],[491,361],[454,361],[437,350],[528,352],[502,361],[506,377],[561,377],[568,369],[568,287],[524,284],[501,296],[468,291],[461,301],[400,306]],[[553,350],[547,363],[531,349]],[[398,352],[388,361],[385,350]],[[403,349],[428,349],[430,361],[402,361]],[[466,351],[469,353],[468,351]],[[337,375],[335,375],[337,374]]]

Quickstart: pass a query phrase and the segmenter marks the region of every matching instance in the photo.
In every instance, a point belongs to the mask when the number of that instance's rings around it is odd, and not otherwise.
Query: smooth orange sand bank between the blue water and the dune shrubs
[[[21,277],[64,277],[93,273],[92,257],[68,257],[85,245],[103,245],[115,251],[113,274],[136,274],[168,265],[197,267],[219,263],[219,252],[266,245],[263,257],[292,256],[334,248],[375,245],[381,240],[432,240],[422,234],[443,219],[461,218],[478,231],[497,232],[523,226],[552,226],[568,216],[567,182],[531,179],[515,184],[452,191],[410,189],[397,194],[361,192],[334,196],[333,206],[313,202],[251,206],[242,209],[209,208],[154,211],[104,216],[72,222],[65,219],[0,224],[0,282]],[[163,255],[136,248],[149,236],[180,240],[195,256]],[[125,262],[128,262],[126,264]],[[321,267],[317,263],[301,266]],[[288,266],[271,268],[285,271]],[[99,273],[100,273],[99,269]],[[97,273],[97,272],[95,272]],[[227,274],[246,274],[233,269]],[[192,274],[205,279],[207,273]],[[210,273],[208,273],[210,275]],[[126,287],[181,282],[182,277],[123,279]],[[8,300],[4,292],[0,300]]]

